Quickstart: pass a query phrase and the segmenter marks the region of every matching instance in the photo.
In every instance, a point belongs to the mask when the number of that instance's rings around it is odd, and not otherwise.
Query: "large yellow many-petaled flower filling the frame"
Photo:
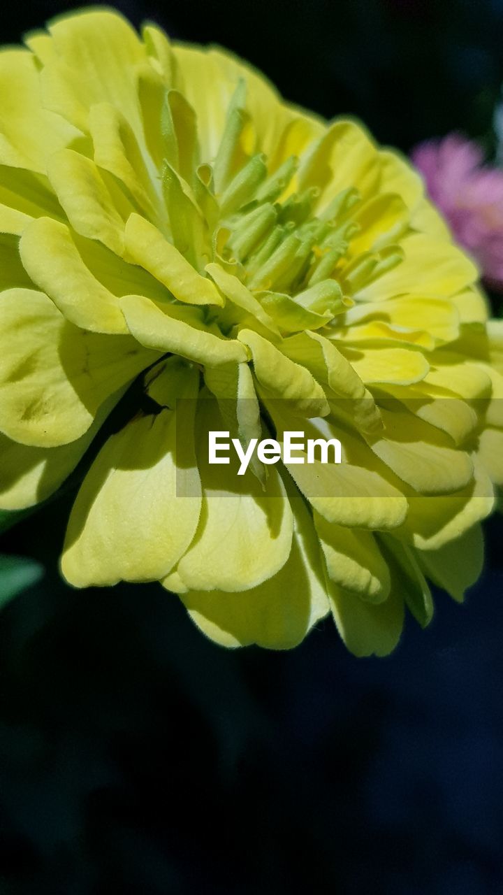
[[[0,507],[54,492],[120,402],[71,584],[158,580],[228,646],[331,610],[389,652],[427,579],[473,584],[503,482],[472,261],[396,152],[224,51],[107,11],[27,44],[0,54]],[[209,430],[337,437],[343,462],[238,476]]]

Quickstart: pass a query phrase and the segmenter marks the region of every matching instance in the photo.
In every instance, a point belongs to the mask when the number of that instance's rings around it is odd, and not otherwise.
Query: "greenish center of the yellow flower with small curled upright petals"
[[[173,90],[166,94],[162,132],[167,235],[201,274],[217,264],[237,277],[280,331],[337,325],[337,315],[353,304],[350,296],[402,260],[393,244],[352,252],[362,229],[355,219],[362,196],[350,187],[326,200],[325,138],[276,169],[264,153],[252,151],[244,82],[227,109],[211,163],[200,159],[192,107]],[[312,183],[320,181],[320,171],[321,185]],[[211,322],[228,334],[239,320],[226,307]]]

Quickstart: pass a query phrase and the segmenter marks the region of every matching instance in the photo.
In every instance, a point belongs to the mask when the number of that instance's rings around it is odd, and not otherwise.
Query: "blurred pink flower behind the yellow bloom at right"
[[[482,149],[456,133],[421,143],[412,160],[457,242],[503,289],[503,169],[484,166]]]

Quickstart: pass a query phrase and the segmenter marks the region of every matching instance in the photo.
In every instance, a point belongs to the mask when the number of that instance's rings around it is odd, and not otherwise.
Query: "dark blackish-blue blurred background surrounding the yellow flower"
[[[10,4],[0,42],[71,6]],[[118,3],[217,42],[384,143],[495,149],[502,0]],[[386,660],[327,622],[226,652],[158,585],[77,592],[60,499],[0,540],[46,569],[0,613],[0,893],[485,895],[503,889],[503,526],[464,607]]]

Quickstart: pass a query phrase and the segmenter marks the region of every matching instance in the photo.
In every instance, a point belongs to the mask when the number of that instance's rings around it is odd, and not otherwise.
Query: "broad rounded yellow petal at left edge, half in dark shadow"
[[[131,337],[73,327],[29,289],[2,293],[0,332],[0,430],[38,447],[79,439],[107,397],[157,356]]]

